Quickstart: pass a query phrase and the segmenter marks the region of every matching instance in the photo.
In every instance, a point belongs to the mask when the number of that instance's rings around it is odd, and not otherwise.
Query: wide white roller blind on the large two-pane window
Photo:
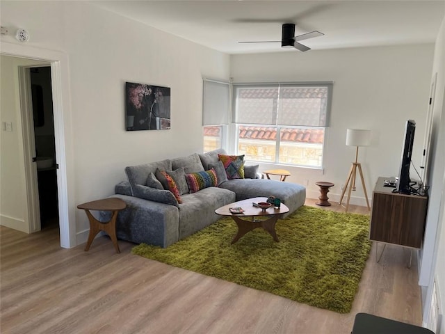
[[[234,85],[234,122],[329,126],[332,83]]]

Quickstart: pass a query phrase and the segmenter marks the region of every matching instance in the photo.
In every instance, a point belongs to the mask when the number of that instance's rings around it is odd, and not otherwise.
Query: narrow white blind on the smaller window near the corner
[[[229,122],[229,83],[204,79],[202,125],[227,125]]]

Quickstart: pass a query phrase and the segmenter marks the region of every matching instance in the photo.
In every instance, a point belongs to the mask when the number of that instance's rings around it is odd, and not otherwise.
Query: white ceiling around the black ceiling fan
[[[312,49],[435,42],[445,15],[445,0],[90,2],[227,54],[296,51],[279,42],[238,43],[280,40],[283,23],[295,23],[296,35],[324,33],[301,42]]]

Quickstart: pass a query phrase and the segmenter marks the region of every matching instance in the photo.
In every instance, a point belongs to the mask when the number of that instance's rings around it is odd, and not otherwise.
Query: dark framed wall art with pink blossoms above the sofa
[[[170,129],[170,88],[125,83],[127,131]]]

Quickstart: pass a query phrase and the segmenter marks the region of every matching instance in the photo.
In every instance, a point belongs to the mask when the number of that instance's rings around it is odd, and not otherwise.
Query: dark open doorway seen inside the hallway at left
[[[51,67],[29,67],[40,228],[58,226],[57,164]],[[29,108],[31,110],[31,108]]]

